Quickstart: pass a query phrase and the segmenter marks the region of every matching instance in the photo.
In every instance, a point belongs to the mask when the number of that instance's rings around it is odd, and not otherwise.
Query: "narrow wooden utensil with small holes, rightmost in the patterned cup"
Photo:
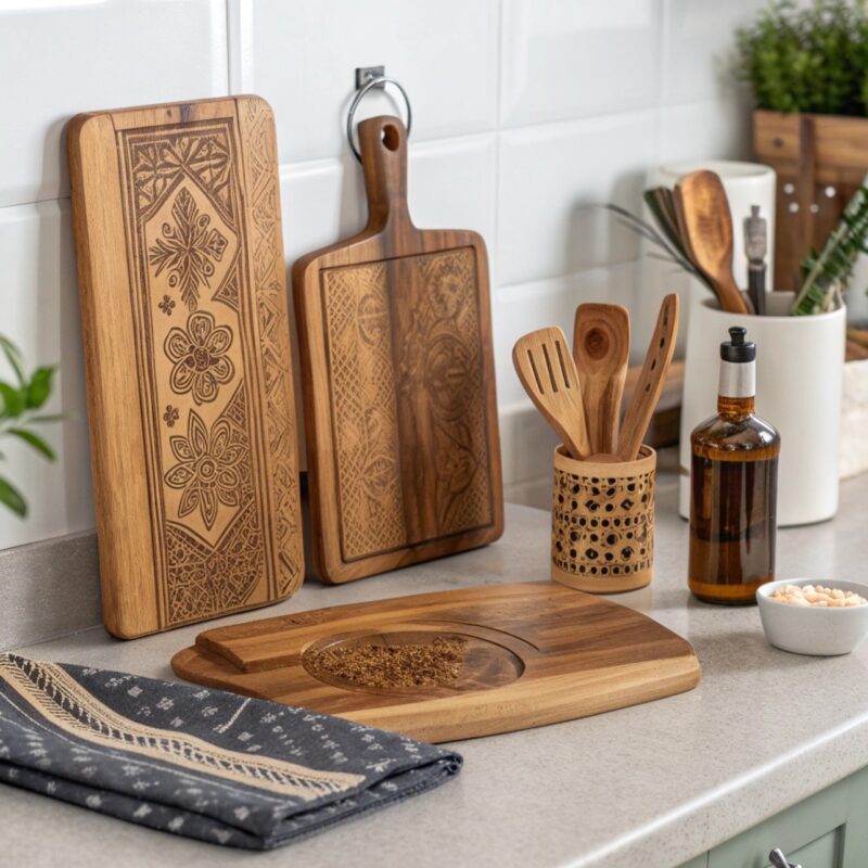
[[[666,383],[672,354],[675,352],[675,337],[678,334],[678,296],[673,293],[663,299],[658,315],[658,324],[651,335],[651,343],[644,357],[639,382],[633,393],[621,436],[617,443],[617,457],[622,461],[635,461],[639,456],[648,425],[658,406],[660,393]]]

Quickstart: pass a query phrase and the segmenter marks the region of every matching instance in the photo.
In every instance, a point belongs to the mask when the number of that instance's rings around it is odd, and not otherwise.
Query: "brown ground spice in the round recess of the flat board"
[[[311,649],[308,669],[360,687],[448,687],[458,679],[465,639],[437,636],[430,644],[361,644]]]

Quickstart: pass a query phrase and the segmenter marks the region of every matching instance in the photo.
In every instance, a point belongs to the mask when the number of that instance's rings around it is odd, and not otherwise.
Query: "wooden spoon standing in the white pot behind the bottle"
[[[714,284],[720,307],[746,314],[732,278],[732,216],[720,178],[707,169],[691,171],[675,184],[673,201],[685,248]]]

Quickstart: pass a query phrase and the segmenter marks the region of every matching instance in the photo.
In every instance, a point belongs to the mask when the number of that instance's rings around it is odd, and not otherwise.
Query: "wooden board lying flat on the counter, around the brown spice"
[[[312,650],[463,640],[455,681],[367,688]],[[171,661],[196,684],[301,705],[425,741],[570,720],[690,690],[690,644],[655,621],[550,582],[340,605],[207,630]]]

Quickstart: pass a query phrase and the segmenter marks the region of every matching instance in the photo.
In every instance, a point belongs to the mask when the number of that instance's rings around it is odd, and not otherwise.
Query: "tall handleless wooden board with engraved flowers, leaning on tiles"
[[[282,599],[304,563],[271,110],[78,115],[68,151],[105,626]]]

